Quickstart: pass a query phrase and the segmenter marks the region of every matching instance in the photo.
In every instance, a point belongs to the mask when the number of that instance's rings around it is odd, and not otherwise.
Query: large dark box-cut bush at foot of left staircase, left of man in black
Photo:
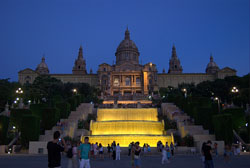
[[[40,118],[33,115],[24,115],[21,125],[21,142],[28,147],[29,141],[37,141],[40,134]]]

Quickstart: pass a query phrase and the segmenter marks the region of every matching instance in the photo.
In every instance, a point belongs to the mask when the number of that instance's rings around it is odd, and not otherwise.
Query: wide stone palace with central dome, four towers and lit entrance
[[[30,68],[21,70],[18,72],[18,78],[21,84],[32,83],[37,76],[45,74],[57,78],[63,83],[88,83],[100,88],[104,95],[114,96],[148,95],[158,92],[161,87],[177,87],[181,83],[198,84],[207,80],[212,81],[236,75],[236,70],[232,68],[220,69],[212,56],[210,56],[205,73],[183,73],[175,46],[172,47],[168,72],[166,73],[163,69],[162,73],[159,73],[155,64],[142,65],[139,63],[140,52],[131,40],[128,29],[116,49],[115,57],[114,65],[102,63],[99,65],[97,73],[93,73],[92,70],[87,73],[86,60],[81,46],[71,74],[50,74],[43,57],[35,70]]]

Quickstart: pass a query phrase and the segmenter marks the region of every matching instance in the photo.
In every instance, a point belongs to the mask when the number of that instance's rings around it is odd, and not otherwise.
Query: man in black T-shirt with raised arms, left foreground
[[[53,141],[47,143],[48,149],[48,167],[60,168],[61,167],[61,152],[67,152],[67,145],[64,139],[60,138],[60,132],[55,131]]]

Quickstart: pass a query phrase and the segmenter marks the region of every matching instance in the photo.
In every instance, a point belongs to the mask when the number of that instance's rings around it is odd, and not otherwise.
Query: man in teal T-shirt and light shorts
[[[80,161],[80,168],[90,168],[90,144],[89,137],[84,138],[84,143],[78,147],[78,157]]]

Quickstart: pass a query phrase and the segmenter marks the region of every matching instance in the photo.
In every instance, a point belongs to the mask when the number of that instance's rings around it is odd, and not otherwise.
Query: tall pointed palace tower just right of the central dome
[[[176,48],[173,45],[172,47],[172,57],[169,60],[169,70],[168,73],[172,73],[172,74],[179,74],[182,73],[182,66],[181,66],[181,62],[177,57],[176,54]]]

